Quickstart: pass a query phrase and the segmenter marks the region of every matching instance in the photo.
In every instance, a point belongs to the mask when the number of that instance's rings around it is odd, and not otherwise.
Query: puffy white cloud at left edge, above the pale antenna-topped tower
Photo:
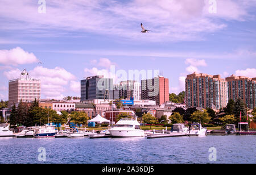
[[[34,53],[28,53],[20,47],[10,50],[0,50],[0,64],[19,65],[31,64],[37,61],[38,59]]]

